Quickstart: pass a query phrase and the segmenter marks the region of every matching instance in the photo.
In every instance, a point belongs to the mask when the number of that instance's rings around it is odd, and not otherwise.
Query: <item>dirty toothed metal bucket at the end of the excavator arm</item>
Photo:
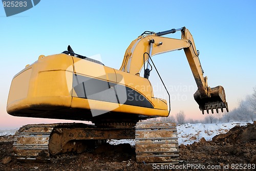
[[[207,114],[209,114],[209,110],[211,110],[211,113],[214,113],[214,109],[216,109],[216,112],[219,113],[219,109],[221,109],[221,112],[223,112],[224,108],[226,108],[226,111],[228,112],[226,95],[222,86],[210,88],[210,97],[202,97],[200,92],[197,91],[194,94],[194,98],[199,104],[199,109],[203,114],[204,110],[206,110]]]

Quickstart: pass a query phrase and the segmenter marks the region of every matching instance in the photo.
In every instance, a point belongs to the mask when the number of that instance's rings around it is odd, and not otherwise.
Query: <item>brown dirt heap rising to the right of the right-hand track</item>
[[[180,145],[180,158],[185,163],[194,161],[204,165],[256,164],[256,122],[246,126],[234,126],[226,134],[212,138],[212,141]]]

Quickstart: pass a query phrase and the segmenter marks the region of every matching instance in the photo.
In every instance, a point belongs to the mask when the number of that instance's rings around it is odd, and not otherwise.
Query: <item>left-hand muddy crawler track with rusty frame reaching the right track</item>
[[[20,127],[13,143],[17,159],[50,162],[58,155],[82,153],[106,139],[134,139],[135,127],[100,128],[82,123],[30,124]]]

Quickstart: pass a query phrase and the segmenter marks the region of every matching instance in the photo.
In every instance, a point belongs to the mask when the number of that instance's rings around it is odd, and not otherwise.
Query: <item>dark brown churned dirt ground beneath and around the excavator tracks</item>
[[[255,170],[256,121],[235,126],[226,134],[179,146],[175,165],[138,164],[130,144],[104,144],[52,163],[20,163],[14,157],[13,136],[0,137],[0,170]],[[175,168],[175,169],[173,169]]]

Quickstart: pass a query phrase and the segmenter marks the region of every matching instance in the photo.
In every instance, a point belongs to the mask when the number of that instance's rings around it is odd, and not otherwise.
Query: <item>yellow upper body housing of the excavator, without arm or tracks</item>
[[[81,78],[86,80],[76,80]],[[137,101],[132,104],[79,97],[81,92],[76,87],[91,80],[113,84],[119,91],[122,88],[127,93],[126,101],[129,100],[129,91],[135,91],[152,107],[139,106],[140,99],[134,97],[130,97],[130,100]],[[112,89],[110,86],[106,93]],[[67,54],[41,55],[36,62],[14,76],[7,112],[14,116],[76,120],[92,120],[95,111],[100,111],[95,116],[104,113],[168,116],[166,101],[152,96],[152,86],[148,79]]]

